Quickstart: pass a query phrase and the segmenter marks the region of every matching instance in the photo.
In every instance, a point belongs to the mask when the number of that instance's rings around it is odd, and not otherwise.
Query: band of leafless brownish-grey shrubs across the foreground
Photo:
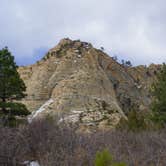
[[[104,148],[129,166],[166,165],[166,129],[80,134],[75,127],[38,120],[17,129],[0,128],[0,140],[3,166],[26,160],[37,160],[41,166],[93,166],[96,152]]]

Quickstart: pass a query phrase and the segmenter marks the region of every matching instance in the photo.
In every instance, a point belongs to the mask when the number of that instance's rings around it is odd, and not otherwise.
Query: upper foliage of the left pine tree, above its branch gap
[[[25,96],[25,84],[17,72],[18,66],[8,48],[0,50],[0,98],[21,99]]]

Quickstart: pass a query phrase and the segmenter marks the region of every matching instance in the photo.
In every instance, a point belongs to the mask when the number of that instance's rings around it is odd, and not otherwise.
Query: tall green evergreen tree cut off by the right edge
[[[166,64],[163,64],[157,81],[152,87],[154,101],[152,103],[153,120],[161,125],[166,124]]]

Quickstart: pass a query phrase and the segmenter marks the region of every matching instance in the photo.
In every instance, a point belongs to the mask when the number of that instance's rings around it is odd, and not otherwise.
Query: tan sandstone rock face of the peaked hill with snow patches
[[[27,86],[22,102],[33,112],[30,121],[50,115],[59,122],[115,126],[133,104],[148,108],[155,78],[148,70],[125,68],[89,43],[63,39],[41,61],[19,68]]]

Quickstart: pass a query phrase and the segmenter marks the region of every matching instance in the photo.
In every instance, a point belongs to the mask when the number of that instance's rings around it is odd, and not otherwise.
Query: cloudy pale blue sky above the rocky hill
[[[0,48],[19,65],[62,38],[103,46],[134,65],[166,62],[165,0],[1,0]]]

